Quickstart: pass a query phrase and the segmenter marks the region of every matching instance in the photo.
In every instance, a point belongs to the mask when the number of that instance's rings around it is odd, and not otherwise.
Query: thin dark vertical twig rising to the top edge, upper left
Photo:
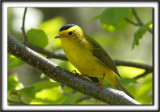
[[[25,42],[27,42],[27,35],[26,35],[26,33],[25,33],[25,18],[26,18],[26,12],[27,12],[27,7],[25,7],[25,9],[24,9],[23,21],[22,21],[22,27],[21,27],[21,30],[22,30],[22,33],[23,33],[23,36],[24,36],[24,44],[25,44]]]

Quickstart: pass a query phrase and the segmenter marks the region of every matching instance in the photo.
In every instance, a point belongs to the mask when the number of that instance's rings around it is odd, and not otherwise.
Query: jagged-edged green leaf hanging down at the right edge
[[[142,38],[142,36],[145,34],[145,32],[148,30],[148,28],[151,26],[152,21],[148,22],[147,24],[141,26],[135,33],[134,33],[134,40],[132,43],[132,49],[134,49],[135,45],[139,45],[139,39]]]

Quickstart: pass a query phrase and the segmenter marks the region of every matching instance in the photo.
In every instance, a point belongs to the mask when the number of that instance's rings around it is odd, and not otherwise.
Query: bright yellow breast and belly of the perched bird
[[[93,56],[88,42],[84,44],[65,38],[61,39],[61,43],[68,60],[83,74],[90,77],[101,77],[103,74],[112,72]]]

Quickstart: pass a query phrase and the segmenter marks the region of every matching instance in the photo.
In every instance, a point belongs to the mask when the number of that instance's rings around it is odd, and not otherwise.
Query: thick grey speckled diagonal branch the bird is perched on
[[[96,83],[62,69],[9,35],[8,52],[44,73],[47,77],[100,101],[108,104],[140,104],[122,91],[106,87],[99,91],[99,86]]]

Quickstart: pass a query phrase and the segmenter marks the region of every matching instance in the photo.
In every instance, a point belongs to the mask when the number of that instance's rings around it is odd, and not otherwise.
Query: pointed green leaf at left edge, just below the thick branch
[[[14,68],[14,67],[18,67],[24,64],[23,61],[19,60],[18,58],[16,58],[13,55],[8,54],[8,70]]]

